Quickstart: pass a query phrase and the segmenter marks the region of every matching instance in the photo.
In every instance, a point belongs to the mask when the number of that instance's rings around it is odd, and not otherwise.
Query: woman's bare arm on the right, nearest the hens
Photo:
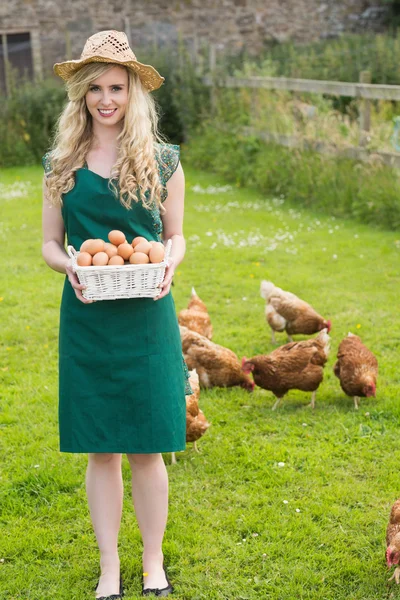
[[[183,237],[183,212],[185,201],[185,176],[181,163],[175,173],[167,182],[168,196],[164,202],[166,212],[161,215],[163,222],[164,242],[172,240],[169,266],[165,270],[164,281],[161,284],[161,293],[155,300],[160,300],[168,294],[171,288],[172,277],[176,267],[182,262],[186,251],[186,242]]]

